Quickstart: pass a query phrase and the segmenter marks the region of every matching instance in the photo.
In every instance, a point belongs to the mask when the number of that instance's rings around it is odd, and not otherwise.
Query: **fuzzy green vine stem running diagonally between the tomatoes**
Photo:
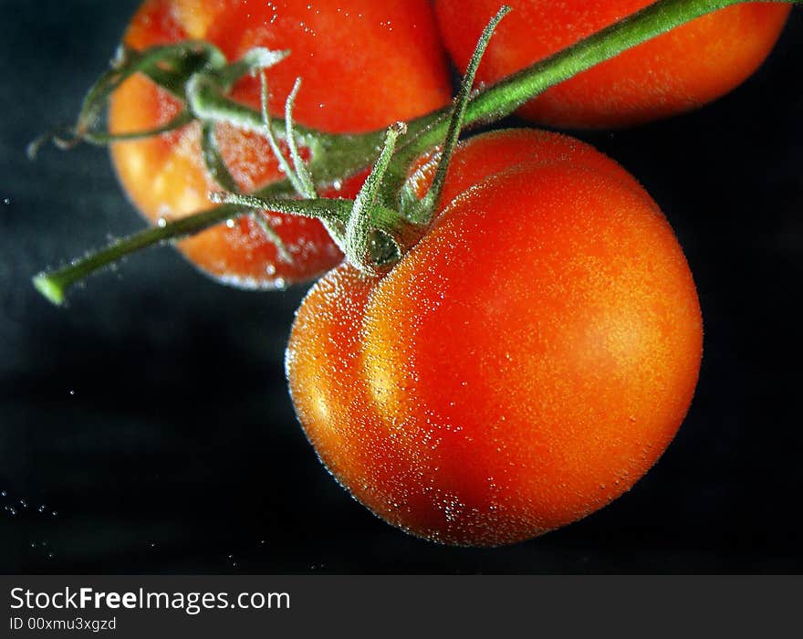
[[[497,84],[477,92],[467,100],[464,126],[494,122],[505,118],[519,106],[542,91],[569,79],[579,72],[600,62],[613,58],[652,37],[657,37],[676,26],[715,10],[738,5],[746,0],[661,0],[638,13],[625,17],[620,22],[568,47],[550,58],[501,80]],[[777,3],[798,5],[803,0],[771,0]],[[70,146],[78,141],[108,144],[120,139],[154,135],[183,126],[190,120],[204,124],[227,122],[250,131],[264,131],[264,114],[252,110],[226,97],[225,91],[235,79],[253,73],[271,64],[280,63],[282,53],[254,49],[241,60],[228,62],[223,54],[208,43],[189,42],[176,47],[155,47],[144,53],[123,50],[110,72],[90,90],[78,118],[78,123],[68,131],[57,131],[49,136],[60,146]],[[135,73],[144,73],[162,88],[171,91],[185,104],[184,110],[166,126],[155,131],[134,131],[123,136],[113,136],[105,131],[93,131],[91,124],[97,120],[110,93],[120,83]],[[385,167],[385,179],[378,197],[385,203],[399,206],[402,186],[418,157],[443,144],[450,129],[451,108],[437,110],[422,118],[407,122],[407,133],[399,141]],[[287,120],[275,119],[270,123],[279,140],[295,140],[307,147],[311,158],[308,171],[316,186],[342,180],[370,166],[381,154],[382,140],[386,131],[371,131],[365,134],[335,135],[297,126],[288,130]],[[32,152],[40,146],[37,141]],[[214,144],[209,149],[213,150]],[[260,198],[259,204],[269,203],[276,211],[294,215],[324,217],[339,223],[348,223],[343,212],[351,204],[333,204],[314,200],[305,202],[287,199],[294,194],[288,180],[271,183],[253,194]],[[141,233],[121,239],[104,249],[73,261],[68,267],[40,273],[34,278],[36,288],[51,302],[63,303],[67,289],[99,268],[142,248],[198,233],[212,225],[251,213],[253,206],[247,200],[226,202],[210,210],[190,215],[149,228]],[[251,203],[255,204],[255,203]],[[329,208],[327,208],[327,206]],[[391,207],[392,208],[392,207]],[[401,206],[399,206],[401,208]],[[370,225],[390,236],[398,234],[400,226],[409,225],[411,219],[399,214],[396,219],[388,213],[389,207],[372,207]],[[416,215],[412,215],[415,218]],[[415,219],[412,219],[414,222]],[[392,227],[392,228],[391,228]],[[363,235],[365,231],[363,230]]]

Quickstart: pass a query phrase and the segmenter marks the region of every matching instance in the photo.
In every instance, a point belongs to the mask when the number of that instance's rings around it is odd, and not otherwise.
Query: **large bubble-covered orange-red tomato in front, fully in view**
[[[652,199],[579,141],[478,136],[447,182],[390,273],[344,264],[311,288],[287,378],[318,456],[382,519],[512,543],[601,508],[662,454],[694,393],[700,307]]]

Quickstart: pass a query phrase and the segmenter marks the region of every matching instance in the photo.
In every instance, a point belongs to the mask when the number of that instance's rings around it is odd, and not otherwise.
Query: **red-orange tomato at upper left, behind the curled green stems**
[[[284,100],[300,76],[305,81],[296,119],[323,131],[381,129],[440,108],[451,96],[426,0],[147,0],[131,20],[125,43],[141,49],[187,38],[208,40],[232,60],[252,47],[291,49],[267,72],[270,110],[283,114]],[[252,78],[241,80],[233,92],[235,100],[255,109],[259,95],[259,81]],[[114,94],[110,130],[151,129],[171,120],[179,108],[165,91],[137,76]],[[281,177],[263,137],[227,125],[217,127],[217,137],[243,190]],[[116,143],[112,157],[131,200],[151,222],[207,209],[207,193],[220,189],[204,168],[197,123],[144,141]],[[344,183],[339,194],[352,197],[360,183],[360,178]],[[248,218],[179,246],[207,273],[250,288],[308,279],[342,258],[317,220],[267,217],[289,248],[292,264],[276,258],[276,247]]]

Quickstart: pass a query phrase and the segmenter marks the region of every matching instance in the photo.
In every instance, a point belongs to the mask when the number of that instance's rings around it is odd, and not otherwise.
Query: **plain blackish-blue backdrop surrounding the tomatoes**
[[[137,4],[0,0],[0,571],[801,571],[803,10],[725,99],[579,133],[679,236],[704,310],[700,383],[630,493],[474,550],[392,529],[318,464],[283,375],[303,288],[225,288],[168,248],[92,278],[68,309],[29,285],[142,226],[105,151],[25,157],[73,119]]]

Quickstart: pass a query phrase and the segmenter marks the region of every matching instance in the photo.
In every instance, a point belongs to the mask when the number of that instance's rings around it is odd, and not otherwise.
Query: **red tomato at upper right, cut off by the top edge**
[[[511,0],[477,73],[495,82],[654,0]],[[435,0],[443,42],[465,68],[498,0]],[[568,127],[622,127],[692,110],[747,79],[767,58],[791,5],[735,5],[645,42],[548,89],[520,110]]]

